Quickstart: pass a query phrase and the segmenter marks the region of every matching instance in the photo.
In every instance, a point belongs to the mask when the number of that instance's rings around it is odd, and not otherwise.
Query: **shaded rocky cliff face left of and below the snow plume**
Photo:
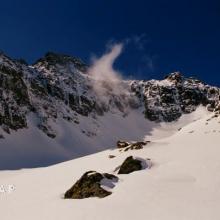
[[[27,127],[26,116],[30,112],[39,119],[38,128],[54,138],[50,120],[63,118],[74,126],[79,123],[78,116],[103,116],[109,111],[125,114],[129,106],[139,106],[129,90],[114,94],[108,82],[103,82],[105,94],[97,94],[96,80],[87,74],[88,66],[78,58],[47,53],[28,66],[1,54],[0,67],[0,124],[7,132]],[[128,88],[127,83],[123,84]]]

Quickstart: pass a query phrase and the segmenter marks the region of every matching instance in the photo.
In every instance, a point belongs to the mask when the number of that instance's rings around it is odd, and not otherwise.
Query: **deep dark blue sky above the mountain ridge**
[[[133,78],[180,70],[220,85],[219,0],[0,0],[0,49],[34,62],[47,51],[90,61],[126,42],[116,68]]]

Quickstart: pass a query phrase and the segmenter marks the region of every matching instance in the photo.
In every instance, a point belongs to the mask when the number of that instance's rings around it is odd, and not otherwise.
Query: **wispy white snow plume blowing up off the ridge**
[[[107,53],[99,59],[93,59],[93,64],[89,68],[88,74],[94,79],[94,90],[101,99],[107,94],[120,95],[126,93],[120,72],[113,68],[113,64],[122,50],[122,43],[112,45]]]

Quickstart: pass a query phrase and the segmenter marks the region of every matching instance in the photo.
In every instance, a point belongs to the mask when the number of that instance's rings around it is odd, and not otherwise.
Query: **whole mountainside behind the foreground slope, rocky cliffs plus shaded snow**
[[[55,53],[31,66],[0,54],[0,169],[87,155],[119,139],[169,130],[199,106],[219,109],[219,88],[179,72],[163,80],[115,82],[94,77],[90,68]]]

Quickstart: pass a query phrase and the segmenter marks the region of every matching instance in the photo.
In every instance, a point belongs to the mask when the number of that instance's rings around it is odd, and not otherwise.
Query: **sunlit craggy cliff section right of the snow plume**
[[[184,78],[179,72],[161,81],[134,81],[131,90],[144,103],[145,117],[153,121],[175,121],[199,105],[209,111],[218,109],[218,88],[194,78]]]

